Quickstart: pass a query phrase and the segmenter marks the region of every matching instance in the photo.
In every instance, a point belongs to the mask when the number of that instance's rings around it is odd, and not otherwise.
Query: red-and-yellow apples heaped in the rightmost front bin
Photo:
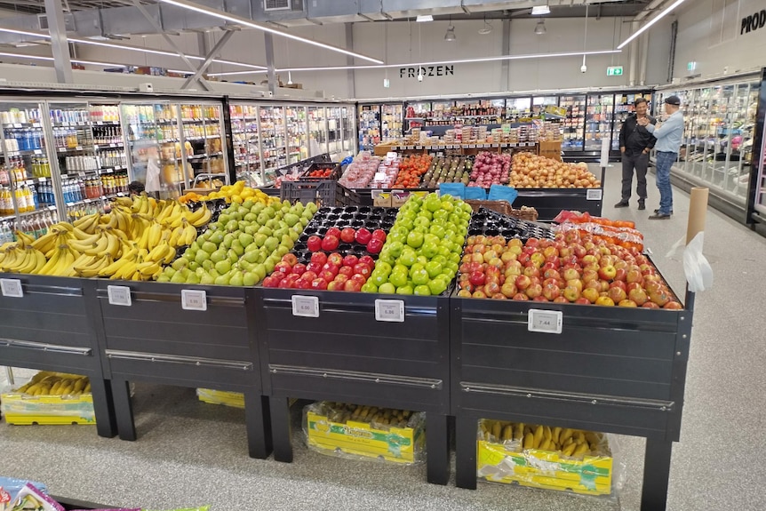
[[[641,252],[571,230],[555,240],[469,236],[458,295],[681,309]]]

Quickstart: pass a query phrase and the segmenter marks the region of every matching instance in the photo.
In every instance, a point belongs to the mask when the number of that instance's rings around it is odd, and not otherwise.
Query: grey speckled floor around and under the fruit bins
[[[658,192],[650,176],[648,211],[611,206],[619,170],[608,170],[605,215],[635,220],[663,275],[682,291],[680,253],[668,249],[685,233],[689,198],[674,193],[672,220],[650,221]],[[762,269],[766,239],[710,210],[706,255],[712,291],[698,296],[681,442],[674,445],[668,509],[766,509],[766,425],[762,407],[766,343],[762,342]],[[0,379],[3,375],[0,374]],[[192,389],[138,385],[139,440],[100,438],[94,427],[9,427],[0,422],[0,474],[48,484],[53,494],[112,506],[170,509],[212,504],[213,511],[329,510],[627,510],[640,503],[643,441],[620,436],[626,483],[618,501],[480,484],[477,491],[425,482],[425,467],[390,467],[307,451],[294,435],[291,464],[250,459],[243,411],[199,403]],[[297,410],[296,410],[297,411]],[[296,416],[297,419],[297,416]]]

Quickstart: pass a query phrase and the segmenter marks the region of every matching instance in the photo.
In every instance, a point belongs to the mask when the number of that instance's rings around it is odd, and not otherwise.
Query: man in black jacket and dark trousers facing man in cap
[[[634,101],[635,114],[628,116],[619,130],[619,151],[622,153],[622,198],[616,208],[626,208],[633,187],[633,171],[637,180],[635,193],[638,194],[638,209],[646,209],[646,170],[649,168],[649,152],[655,139],[639,119],[655,124],[654,117],[647,114],[648,104],[643,98]]]

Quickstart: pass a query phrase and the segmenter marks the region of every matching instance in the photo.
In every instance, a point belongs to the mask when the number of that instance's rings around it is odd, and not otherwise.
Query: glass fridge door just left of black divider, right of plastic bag
[[[227,158],[224,154],[223,116],[214,103],[182,103],[182,145],[185,148],[187,175],[185,188],[206,181],[212,187],[227,184]]]

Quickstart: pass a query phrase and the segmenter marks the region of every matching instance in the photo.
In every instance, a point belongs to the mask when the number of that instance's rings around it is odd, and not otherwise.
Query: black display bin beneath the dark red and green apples
[[[316,297],[318,317],[292,314]],[[427,479],[449,479],[449,297],[256,288],[264,393],[274,457],[292,460],[291,397],[426,411]],[[403,323],[378,322],[376,299],[401,299]]]

